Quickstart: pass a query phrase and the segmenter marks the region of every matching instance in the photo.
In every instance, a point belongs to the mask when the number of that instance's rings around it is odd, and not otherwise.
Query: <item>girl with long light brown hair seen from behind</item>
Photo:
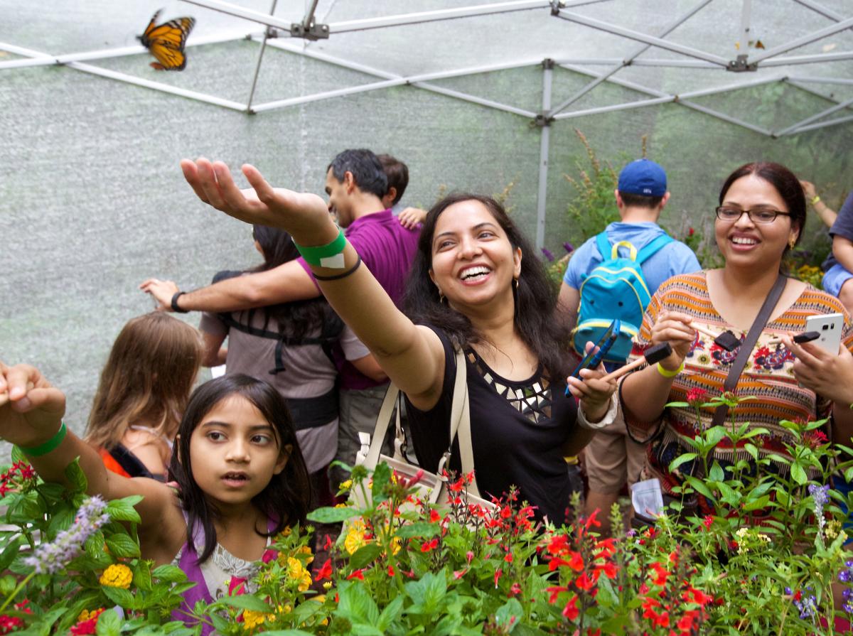
[[[129,321],[113,343],[86,442],[125,477],[161,481],[201,363],[199,332],[162,312]]]

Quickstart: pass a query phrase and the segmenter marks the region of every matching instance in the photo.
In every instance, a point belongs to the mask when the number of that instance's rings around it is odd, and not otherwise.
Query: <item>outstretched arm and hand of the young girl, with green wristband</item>
[[[153,479],[128,479],[107,471],[89,444],[71,431],[62,437],[64,414],[65,395],[37,368],[0,362],[0,437],[19,446],[45,482],[67,483],[65,468],[79,457],[89,481],[87,493],[107,500],[142,494],[136,512],[148,534],[169,536],[177,530],[180,536],[185,525],[171,489]]]

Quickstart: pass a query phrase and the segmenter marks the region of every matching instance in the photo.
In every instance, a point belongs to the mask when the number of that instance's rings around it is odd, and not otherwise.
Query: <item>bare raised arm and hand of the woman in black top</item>
[[[272,188],[251,165],[242,170],[253,190],[237,188],[228,166],[221,162],[185,159],[181,167],[195,194],[217,210],[247,223],[287,230],[298,246],[339,246],[341,251],[334,257],[321,256],[322,263],[331,267],[311,262],[319,263],[320,257],[306,258],[329,304],[416,407],[435,404],[444,379],[441,341],[431,329],[416,327],[368,269],[358,266],[360,257],[339,235],[320,197]]]

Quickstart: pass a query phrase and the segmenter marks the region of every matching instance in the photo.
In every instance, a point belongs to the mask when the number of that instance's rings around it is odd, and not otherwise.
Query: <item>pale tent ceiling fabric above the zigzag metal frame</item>
[[[843,4],[844,0],[426,0],[418,3],[417,11],[405,12],[395,2],[185,0],[163,15],[192,9],[197,18],[188,42],[189,63],[202,63],[199,54],[206,47],[229,47],[244,69],[243,82],[229,73],[220,77],[219,86],[204,82],[205,90],[202,83],[179,73],[139,72],[138,65],[136,72],[126,72],[118,63],[120,56],[143,52],[131,44],[132,35],[127,33],[127,24],[144,24],[138,8],[132,17],[119,11],[97,14],[97,30],[76,31],[78,21],[33,31],[34,22],[44,25],[50,17],[37,20],[37,9],[32,9],[32,21],[20,12],[16,16],[21,28],[12,32],[18,41],[0,43],[0,50],[11,54],[7,57],[16,58],[0,61],[0,71],[61,63],[247,113],[400,84],[475,101],[539,124],[676,102],[764,135],[782,136],[853,119],[853,15]],[[310,31],[311,26],[326,37],[291,36],[299,27]],[[122,46],[98,46],[102,41],[118,44],[110,41],[110,32],[122,34]],[[258,72],[267,55],[304,55],[349,68],[352,81],[322,90],[312,90],[308,83],[299,94],[288,95],[281,90],[280,77],[264,78]],[[553,60],[560,69],[551,80],[554,99],[549,107],[543,106],[542,81],[531,83],[530,98],[519,99],[490,95],[490,82],[478,79],[541,67],[545,60]],[[315,66],[311,69],[319,74]],[[264,86],[264,80],[272,84]],[[751,117],[752,87],[780,83],[803,94],[792,100],[796,105],[792,117],[783,124]],[[735,112],[717,110],[713,99],[707,100],[733,91],[744,95],[743,106]],[[809,104],[807,112],[803,103]]]

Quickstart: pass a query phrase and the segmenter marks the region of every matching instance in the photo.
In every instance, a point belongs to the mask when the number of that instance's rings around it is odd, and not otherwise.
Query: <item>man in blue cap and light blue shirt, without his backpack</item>
[[[650,159],[630,162],[619,173],[618,186],[613,194],[621,220],[610,223],[605,228],[603,234],[606,234],[606,241],[610,246],[630,243],[636,252],[641,252],[644,246],[655,240],[658,240],[658,244],[663,244],[657,252],[653,252],[640,263],[650,294],[670,276],[701,269],[696,255],[688,246],[677,240],[659,240],[661,236],[668,236],[658,225],[658,219],[664,205],[670,200],[670,193],[666,189],[666,172],[660,165]],[[566,312],[572,324],[577,322],[578,308],[582,302],[583,280],[603,261],[612,257],[612,254],[600,252],[600,243],[596,236],[583,243],[583,246],[572,254],[563,277],[560,309]],[[618,363],[612,363],[609,368],[619,366],[621,365]],[[646,446],[631,441],[625,431],[624,422],[617,420],[596,432],[592,441],[583,449],[589,479],[587,514],[596,508],[603,512],[610,511],[625,483],[630,485],[637,481],[645,463],[645,455]],[[602,515],[601,521],[607,523],[608,515]]]

